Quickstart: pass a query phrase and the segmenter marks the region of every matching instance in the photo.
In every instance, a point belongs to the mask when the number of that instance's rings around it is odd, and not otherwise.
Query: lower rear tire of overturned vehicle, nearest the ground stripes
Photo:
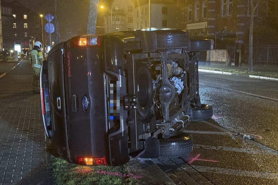
[[[170,130],[170,138],[158,138],[160,157],[181,157],[192,151],[191,135]]]

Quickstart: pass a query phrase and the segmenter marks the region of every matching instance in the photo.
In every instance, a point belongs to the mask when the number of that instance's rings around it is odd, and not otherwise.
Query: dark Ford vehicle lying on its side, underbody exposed
[[[53,47],[40,86],[46,135],[70,163],[123,165],[137,157],[192,151],[189,121],[210,118],[201,104],[198,57],[208,39],[185,30],[75,36]]]

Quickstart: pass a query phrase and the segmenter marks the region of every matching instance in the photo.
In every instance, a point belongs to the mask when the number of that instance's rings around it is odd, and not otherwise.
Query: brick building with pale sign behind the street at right
[[[191,36],[209,37],[216,43],[226,39],[237,45],[248,44],[250,0],[177,0],[177,4],[178,28],[188,30]],[[278,31],[277,24],[270,21],[277,18],[277,4],[275,0],[266,0],[254,5],[254,26],[267,27],[266,32],[275,31],[276,27]]]

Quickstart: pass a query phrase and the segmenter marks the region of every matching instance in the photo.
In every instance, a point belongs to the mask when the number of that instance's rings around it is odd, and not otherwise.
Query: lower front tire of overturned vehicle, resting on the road
[[[201,107],[192,107],[192,120],[201,121],[209,119],[213,115],[213,108],[210,105],[201,104]]]

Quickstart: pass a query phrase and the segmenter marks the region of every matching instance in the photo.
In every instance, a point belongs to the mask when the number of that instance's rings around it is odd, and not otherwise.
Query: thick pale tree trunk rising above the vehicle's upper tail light
[[[90,0],[87,34],[96,33],[96,18],[99,8],[99,0]]]

